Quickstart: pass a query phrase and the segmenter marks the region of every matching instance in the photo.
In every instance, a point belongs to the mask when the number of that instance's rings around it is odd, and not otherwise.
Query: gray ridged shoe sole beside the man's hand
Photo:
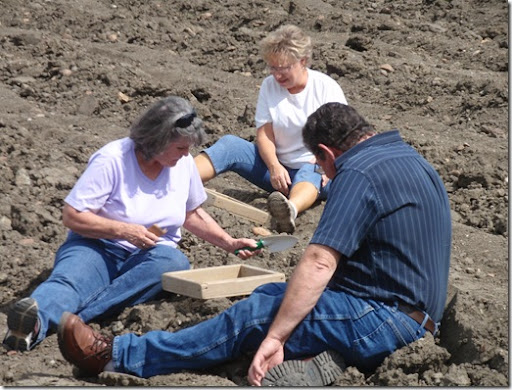
[[[268,370],[262,386],[327,386],[345,370],[345,360],[335,351],[309,360],[285,360]]]

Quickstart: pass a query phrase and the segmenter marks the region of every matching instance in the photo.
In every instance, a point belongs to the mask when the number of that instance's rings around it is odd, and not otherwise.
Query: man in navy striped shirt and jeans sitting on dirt
[[[398,131],[376,134],[344,104],[321,106],[303,137],[332,183],[288,283],[260,286],[219,316],[175,333],[106,340],[65,314],[59,345],[66,359],[89,373],[148,377],[256,351],[251,384],[322,386],[345,365],[371,371],[426,332],[435,335],[451,247],[439,175]],[[91,345],[100,347],[96,354]]]

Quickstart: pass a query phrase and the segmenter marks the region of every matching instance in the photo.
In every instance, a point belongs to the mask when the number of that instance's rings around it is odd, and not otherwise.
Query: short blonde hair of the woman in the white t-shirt
[[[311,38],[299,27],[286,24],[261,40],[260,51],[265,62],[280,55],[295,61],[305,58],[309,65],[313,46]]]

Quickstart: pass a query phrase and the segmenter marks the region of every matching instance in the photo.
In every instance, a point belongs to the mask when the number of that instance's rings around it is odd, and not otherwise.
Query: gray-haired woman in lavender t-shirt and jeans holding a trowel
[[[162,273],[190,268],[177,248],[181,226],[231,253],[256,246],[231,237],[201,208],[206,193],[189,147],[203,138],[190,103],[170,96],[151,106],[129,137],[91,156],[65,199],[70,230],[50,277],[8,313],[8,348],[33,348],[65,311],[88,322],[153,298]]]

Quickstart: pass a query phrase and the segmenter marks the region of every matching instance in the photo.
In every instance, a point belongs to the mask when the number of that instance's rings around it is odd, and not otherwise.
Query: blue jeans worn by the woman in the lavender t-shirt
[[[156,245],[130,253],[112,241],[70,233],[50,277],[31,294],[41,322],[36,343],[56,330],[64,311],[84,322],[116,314],[162,291],[162,273],[189,268],[188,258],[176,248]]]

